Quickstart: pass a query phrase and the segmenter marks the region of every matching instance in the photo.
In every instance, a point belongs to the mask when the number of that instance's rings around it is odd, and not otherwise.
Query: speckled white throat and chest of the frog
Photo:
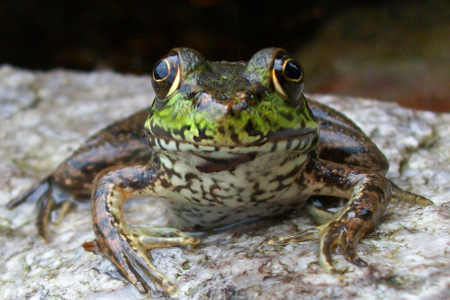
[[[159,159],[171,187],[157,195],[183,226],[218,227],[267,215],[283,214],[301,204],[295,179],[307,156],[298,151],[268,152],[234,170],[204,173],[208,162],[192,152],[162,152]]]

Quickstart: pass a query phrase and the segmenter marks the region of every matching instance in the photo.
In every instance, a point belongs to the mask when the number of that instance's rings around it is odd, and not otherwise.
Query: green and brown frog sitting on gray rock
[[[48,177],[12,200],[38,204],[37,231],[49,238],[50,215],[91,201],[95,240],[87,251],[110,259],[142,294],[177,286],[148,257],[150,250],[193,248],[189,228],[208,230],[305,211],[317,227],[267,242],[319,240],[319,262],[340,276],[332,251],[367,266],[355,246],[381,222],[392,198],[432,205],[386,177],[389,162],[344,114],[307,99],[301,64],[281,48],[247,62],[207,61],[175,48],[157,61],[147,109],[85,141]],[[159,197],[179,227],[126,223],[123,205]],[[346,199],[334,212],[311,199]],[[67,205],[68,204],[68,205]]]

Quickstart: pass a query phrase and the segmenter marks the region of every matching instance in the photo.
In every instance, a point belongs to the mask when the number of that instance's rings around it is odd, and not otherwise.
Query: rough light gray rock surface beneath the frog
[[[196,249],[152,250],[157,268],[180,288],[179,299],[450,298],[450,114],[411,111],[356,98],[314,95],[345,112],[391,161],[400,186],[436,205],[392,202],[379,228],[356,247],[368,268],[349,264],[342,281],[324,273],[318,243],[272,246],[269,237],[307,229],[302,213],[211,232]],[[0,68],[0,299],[144,298],[101,256],[81,248],[94,239],[88,205],[35,231],[34,204],[4,205],[46,176],[107,123],[148,106],[148,77],[112,72],[29,72]],[[130,223],[163,226],[157,199],[131,201]],[[166,295],[154,295],[166,298]]]

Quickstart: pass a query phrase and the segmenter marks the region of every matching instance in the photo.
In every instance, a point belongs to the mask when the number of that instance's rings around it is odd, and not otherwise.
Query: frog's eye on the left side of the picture
[[[177,55],[169,55],[157,62],[151,84],[159,101],[165,102],[175,94],[180,86],[180,73]]]

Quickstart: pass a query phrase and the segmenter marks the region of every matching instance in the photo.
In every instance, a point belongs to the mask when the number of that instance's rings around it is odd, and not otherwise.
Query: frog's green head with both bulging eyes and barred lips
[[[156,98],[145,124],[154,150],[216,154],[314,146],[318,124],[302,94],[302,67],[283,49],[246,62],[211,62],[177,48],[153,70]]]

